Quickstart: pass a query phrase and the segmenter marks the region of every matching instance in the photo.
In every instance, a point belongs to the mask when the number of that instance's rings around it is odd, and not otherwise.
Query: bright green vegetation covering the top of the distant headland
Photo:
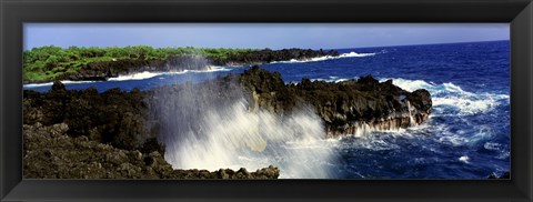
[[[210,48],[159,48],[135,47],[39,47],[23,52],[23,80],[54,80],[66,73],[76,73],[91,62],[113,60],[165,60],[169,57],[204,55],[213,60],[224,60],[254,49],[210,49]]]

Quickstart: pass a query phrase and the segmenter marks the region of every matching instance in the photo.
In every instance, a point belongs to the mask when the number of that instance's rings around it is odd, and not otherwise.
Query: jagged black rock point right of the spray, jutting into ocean
[[[312,105],[326,127],[326,137],[360,134],[420,124],[431,113],[431,95],[420,89],[408,92],[392,80],[371,75],[338,83],[302,79],[285,85],[281,75],[252,68],[241,77],[258,107],[283,114],[301,104]]]

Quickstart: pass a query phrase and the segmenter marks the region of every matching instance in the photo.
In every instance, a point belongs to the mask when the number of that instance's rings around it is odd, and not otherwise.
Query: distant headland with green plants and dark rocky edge
[[[336,51],[311,49],[212,49],[137,47],[40,47],[23,52],[23,81],[105,80],[137,71],[169,71],[191,60],[198,65],[248,65],[291,59],[338,55]],[[198,62],[195,58],[204,59]],[[145,68],[149,69],[145,69]],[[203,67],[200,67],[203,68]],[[185,68],[187,69],[187,68]]]

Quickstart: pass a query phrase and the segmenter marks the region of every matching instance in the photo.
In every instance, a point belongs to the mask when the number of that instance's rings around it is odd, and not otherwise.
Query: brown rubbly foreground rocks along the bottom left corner
[[[67,135],[66,123],[23,125],[26,179],[276,179],[274,166],[249,172],[220,169],[173,170],[158,151],[120,150]]]

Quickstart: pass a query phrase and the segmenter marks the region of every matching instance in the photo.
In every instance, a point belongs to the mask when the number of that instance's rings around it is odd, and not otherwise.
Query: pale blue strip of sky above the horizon
[[[342,49],[509,40],[509,23],[24,23],[36,47]]]

